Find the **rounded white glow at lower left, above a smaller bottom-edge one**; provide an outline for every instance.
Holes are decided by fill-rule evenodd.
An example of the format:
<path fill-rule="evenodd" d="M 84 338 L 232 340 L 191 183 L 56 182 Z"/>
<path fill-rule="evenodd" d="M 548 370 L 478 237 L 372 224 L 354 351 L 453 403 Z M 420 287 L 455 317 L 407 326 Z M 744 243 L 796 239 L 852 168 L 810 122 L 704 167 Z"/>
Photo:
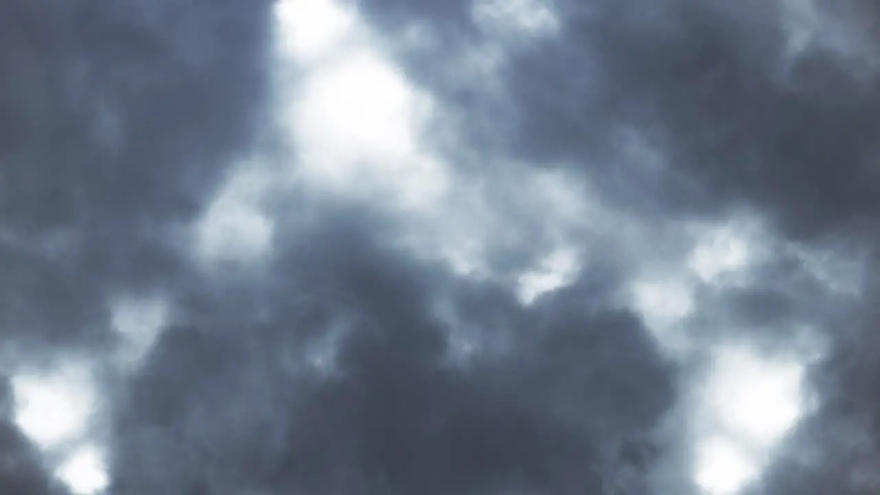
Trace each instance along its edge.
<path fill-rule="evenodd" d="M 84 434 L 97 397 L 90 370 L 67 364 L 52 373 L 12 377 L 15 423 L 44 449 L 60 447 Z"/>

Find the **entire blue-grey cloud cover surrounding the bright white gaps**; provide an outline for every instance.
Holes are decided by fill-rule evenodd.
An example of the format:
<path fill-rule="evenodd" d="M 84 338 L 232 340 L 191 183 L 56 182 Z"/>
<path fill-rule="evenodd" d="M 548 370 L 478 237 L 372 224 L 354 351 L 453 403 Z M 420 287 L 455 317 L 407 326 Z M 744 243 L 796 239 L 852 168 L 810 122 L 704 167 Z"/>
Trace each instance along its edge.
<path fill-rule="evenodd" d="M 203 270 L 181 232 L 277 137 L 271 3 L 0 4 L 0 371 L 100 360 L 120 345 L 114 298 L 169 301 L 143 362 L 98 366 L 110 493 L 695 492 L 687 387 L 707 355 L 671 358 L 627 294 L 686 264 L 686 225 L 741 211 L 769 254 L 744 281 L 688 281 L 677 325 L 707 346 L 784 350 L 805 324 L 830 343 L 810 368 L 821 406 L 754 490 L 876 489 L 862 479 L 876 440 L 856 441 L 880 427 L 862 255 L 880 100 L 862 52 L 812 32 L 793 51 L 783 3 L 557 2 L 561 27 L 541 36 L 480 26 L 468 2 L 357 6 L 450 119 L 426 137 L 444 166 L 505 211 L 478 232 L 502 275 L 400 247 L 409 211 L 307 188 L 260 205 L 265 260 Z M 295 162 L 285 146 L 260 159 Z M 589 184 L 573 190 L 602 224 L 558 227 L 589 259 L 528 305 L 510 279 L 559 239 L 538 201 L 517 201 L 522 166 Z M 510 244 L 493 244 L 505 228 Z M 799 255 L 841 257 L 831 241 L 861 256 L 858 295 Z M 3 383 L 0 491 L 61 491 Z"/>

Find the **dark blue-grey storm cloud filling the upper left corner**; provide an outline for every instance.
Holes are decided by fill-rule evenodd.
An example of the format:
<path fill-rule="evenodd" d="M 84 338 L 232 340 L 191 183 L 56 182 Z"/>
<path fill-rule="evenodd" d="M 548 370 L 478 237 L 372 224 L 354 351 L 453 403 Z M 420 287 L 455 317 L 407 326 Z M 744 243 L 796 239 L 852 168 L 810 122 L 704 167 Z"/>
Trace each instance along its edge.
<path fill-rule="evenodd" d="M 253 139 L 267 6 L 0 5 L 4 334 L 93 333 L 111 286 L 176 269 L 166 231 Z"/>

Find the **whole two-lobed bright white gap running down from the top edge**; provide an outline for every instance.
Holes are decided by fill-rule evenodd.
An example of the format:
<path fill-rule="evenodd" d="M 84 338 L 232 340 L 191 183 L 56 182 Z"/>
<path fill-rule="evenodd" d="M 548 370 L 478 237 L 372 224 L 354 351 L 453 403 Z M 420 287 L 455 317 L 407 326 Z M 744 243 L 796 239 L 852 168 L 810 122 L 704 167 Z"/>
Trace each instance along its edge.
<path fill-rule="evenodd" d="M 446 167 L 420 138 L 433 102 L 357 11 L 333 0 L 284 0 L 275 19 L 279 117 L 297 155 L 289 179 L 398 210 L 443 196 Z M 285 78 L 291 71 L 295 81 Z"/>

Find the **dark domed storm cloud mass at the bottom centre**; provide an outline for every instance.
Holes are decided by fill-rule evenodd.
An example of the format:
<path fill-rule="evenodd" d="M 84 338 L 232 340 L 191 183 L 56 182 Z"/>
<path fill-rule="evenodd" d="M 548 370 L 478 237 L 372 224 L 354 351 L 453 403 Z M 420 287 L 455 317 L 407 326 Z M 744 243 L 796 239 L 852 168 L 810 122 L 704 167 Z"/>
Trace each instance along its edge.
<path fill-rule="evenodd" d="M 671 367 L 606 288 L 527 310 L 334 223 L 275 267 L 259 318 L 162 337 L 122 402 L 120 492 L 598 493 L 647 469 Z M 501 344 L 461 355 L 438 299 Z"/>

